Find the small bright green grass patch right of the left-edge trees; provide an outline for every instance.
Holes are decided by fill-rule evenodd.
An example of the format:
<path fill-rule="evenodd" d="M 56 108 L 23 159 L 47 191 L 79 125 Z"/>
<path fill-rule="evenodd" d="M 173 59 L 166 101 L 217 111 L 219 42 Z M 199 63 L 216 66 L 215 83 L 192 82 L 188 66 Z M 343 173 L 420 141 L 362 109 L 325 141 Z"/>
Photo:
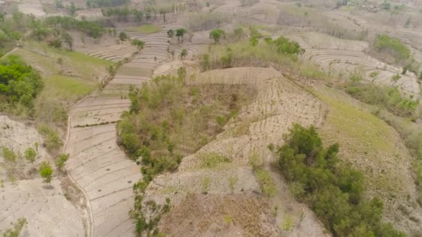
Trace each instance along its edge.
<path fill-rule="evenodd" d="M 60 75 L 44 78 L 44 83 L 46 88 L 42 93 L 66 100 L 82 98 L 90 94 L 96 87 L 95 84 L 85 80 Z"/>

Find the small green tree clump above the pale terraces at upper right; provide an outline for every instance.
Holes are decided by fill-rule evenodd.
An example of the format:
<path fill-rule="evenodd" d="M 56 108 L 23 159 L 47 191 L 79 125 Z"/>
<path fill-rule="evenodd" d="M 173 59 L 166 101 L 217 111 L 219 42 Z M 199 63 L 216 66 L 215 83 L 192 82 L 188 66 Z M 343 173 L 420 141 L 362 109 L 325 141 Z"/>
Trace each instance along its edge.
<path fill-rule="evenodd" d="M 391 38 L 388 35 L 377 35 L 373 42 L 373 48 L 378 53 L 391 56 L 398 64 L 405 64 L 405 61 L 410 58 L 410 49 L 400 40 Z"/>

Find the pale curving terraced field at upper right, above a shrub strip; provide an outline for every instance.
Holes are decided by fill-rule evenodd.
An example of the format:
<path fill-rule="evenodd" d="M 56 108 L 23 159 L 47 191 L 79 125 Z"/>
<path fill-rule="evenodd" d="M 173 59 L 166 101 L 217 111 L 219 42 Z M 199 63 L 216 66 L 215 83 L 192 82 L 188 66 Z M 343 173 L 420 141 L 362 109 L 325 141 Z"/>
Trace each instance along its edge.
<path fill-rule="evenodd" d="M 368 44 L 352 40 L 341 40 L 322 33 L 289 35 L 305 49 L 303 59 L 313 62 L 331 75 L 348 78 L 354 73 L 380 85 L 398 86 L 404 93 L 418 96 L 421 89 L 414 73 L 400 75 L 398 81 L 393 76 L 401 74 L 401 69 L 372 58 L 364 53 Z M 371 77 L 371 73 L 378 75 Z"/>

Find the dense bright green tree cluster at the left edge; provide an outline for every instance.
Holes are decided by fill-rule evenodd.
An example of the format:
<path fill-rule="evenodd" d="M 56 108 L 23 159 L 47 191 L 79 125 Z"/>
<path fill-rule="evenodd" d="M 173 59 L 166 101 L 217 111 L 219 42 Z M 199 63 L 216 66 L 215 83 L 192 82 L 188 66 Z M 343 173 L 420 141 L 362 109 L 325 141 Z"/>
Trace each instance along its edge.
<path fill-rule="evenodd" d="M 0 110 L 33 109 L 33 100 L 43 87 L 40 74 L 21 58 L 9 55 L 0 61 Z"/>

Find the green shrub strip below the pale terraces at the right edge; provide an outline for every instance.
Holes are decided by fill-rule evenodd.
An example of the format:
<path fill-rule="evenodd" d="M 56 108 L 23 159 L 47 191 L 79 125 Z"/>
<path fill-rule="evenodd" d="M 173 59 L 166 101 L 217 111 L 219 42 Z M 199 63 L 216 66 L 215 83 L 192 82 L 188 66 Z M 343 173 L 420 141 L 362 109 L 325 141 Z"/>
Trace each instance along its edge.
<path fill-rule="evenodd" d="M 412 116 L 416 112 L 419 100 L 405 98 L 396 87 L 383 87 L 373 83 L 362 83 L 362 78 L 352 76 L 346 85 L 351 96 L 371 105 L 381 105 L 398 116 Z"/>

